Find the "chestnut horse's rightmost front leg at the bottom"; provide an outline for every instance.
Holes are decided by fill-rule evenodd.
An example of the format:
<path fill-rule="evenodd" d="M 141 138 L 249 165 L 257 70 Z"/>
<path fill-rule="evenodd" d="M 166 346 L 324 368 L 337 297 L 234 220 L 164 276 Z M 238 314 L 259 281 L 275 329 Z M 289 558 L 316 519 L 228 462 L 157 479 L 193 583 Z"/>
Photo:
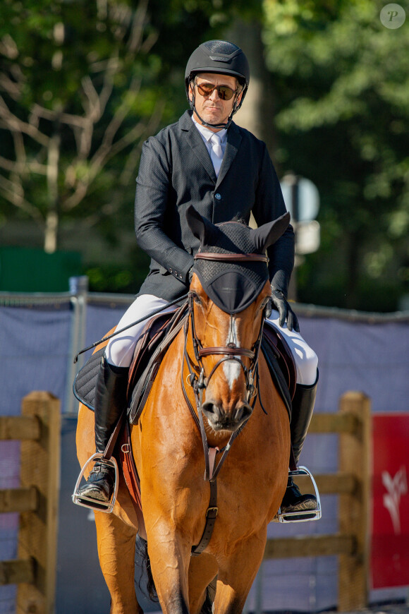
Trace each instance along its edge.
<path fill-rule="evenodd" d="M 243 612 L 245 600 L 262 562 L 267 529 L 240 542 L 219 567 L 214 611 L 217 614 Z"/>

